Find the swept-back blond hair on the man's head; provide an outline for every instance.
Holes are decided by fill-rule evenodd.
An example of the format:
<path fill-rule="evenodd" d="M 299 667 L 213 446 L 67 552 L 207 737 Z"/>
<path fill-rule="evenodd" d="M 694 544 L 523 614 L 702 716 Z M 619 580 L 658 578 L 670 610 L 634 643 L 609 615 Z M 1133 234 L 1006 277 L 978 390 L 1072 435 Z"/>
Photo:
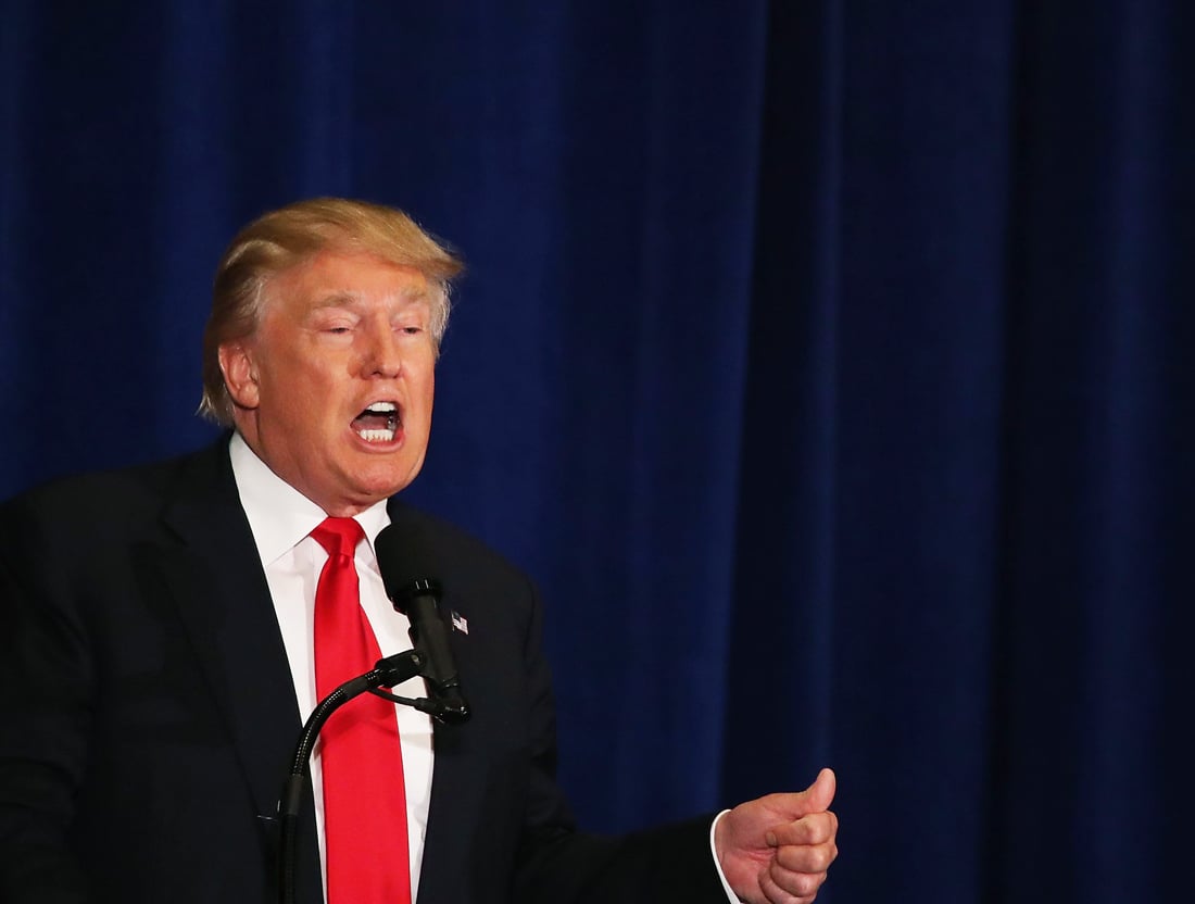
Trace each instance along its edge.
<path fill-rule="evenodd" d="M 448 326 L 449 283 L 464 269 L 460 259 L 392 207 L 339 197 L 298 201 L 245 226 L 220 258 L 203 331 L 201 415 L 232 424 L 220 347 L 253 335 L 271 279 L 326 250 L 367 252 L 422 273 L 431 287 L 431 337 L 439 352 Z"/>

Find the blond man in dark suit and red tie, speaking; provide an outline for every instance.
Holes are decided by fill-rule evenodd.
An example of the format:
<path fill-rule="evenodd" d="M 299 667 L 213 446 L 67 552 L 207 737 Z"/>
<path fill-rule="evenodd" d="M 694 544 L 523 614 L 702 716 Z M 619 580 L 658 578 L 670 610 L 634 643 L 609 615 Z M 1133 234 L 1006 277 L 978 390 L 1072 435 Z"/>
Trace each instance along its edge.
<path fill-rule="evenodd" d="M 829 770 L 716 820 L 575 830 L 532 582 L 394 499 L 423 464 L 459 269 L 388 208 L 321 198 L 259 218 L 220 263 L 204 337 L 202 409 L 234 432 L 6 503 L 2 900 L 275 900 L 301 719 L 410 646 L 373 550 L 387 525 L 436 557 L 472 717 L 433 725 L 369 695 L 332 716 L 299 900 L 816 896 L 836 855 Z"/>

